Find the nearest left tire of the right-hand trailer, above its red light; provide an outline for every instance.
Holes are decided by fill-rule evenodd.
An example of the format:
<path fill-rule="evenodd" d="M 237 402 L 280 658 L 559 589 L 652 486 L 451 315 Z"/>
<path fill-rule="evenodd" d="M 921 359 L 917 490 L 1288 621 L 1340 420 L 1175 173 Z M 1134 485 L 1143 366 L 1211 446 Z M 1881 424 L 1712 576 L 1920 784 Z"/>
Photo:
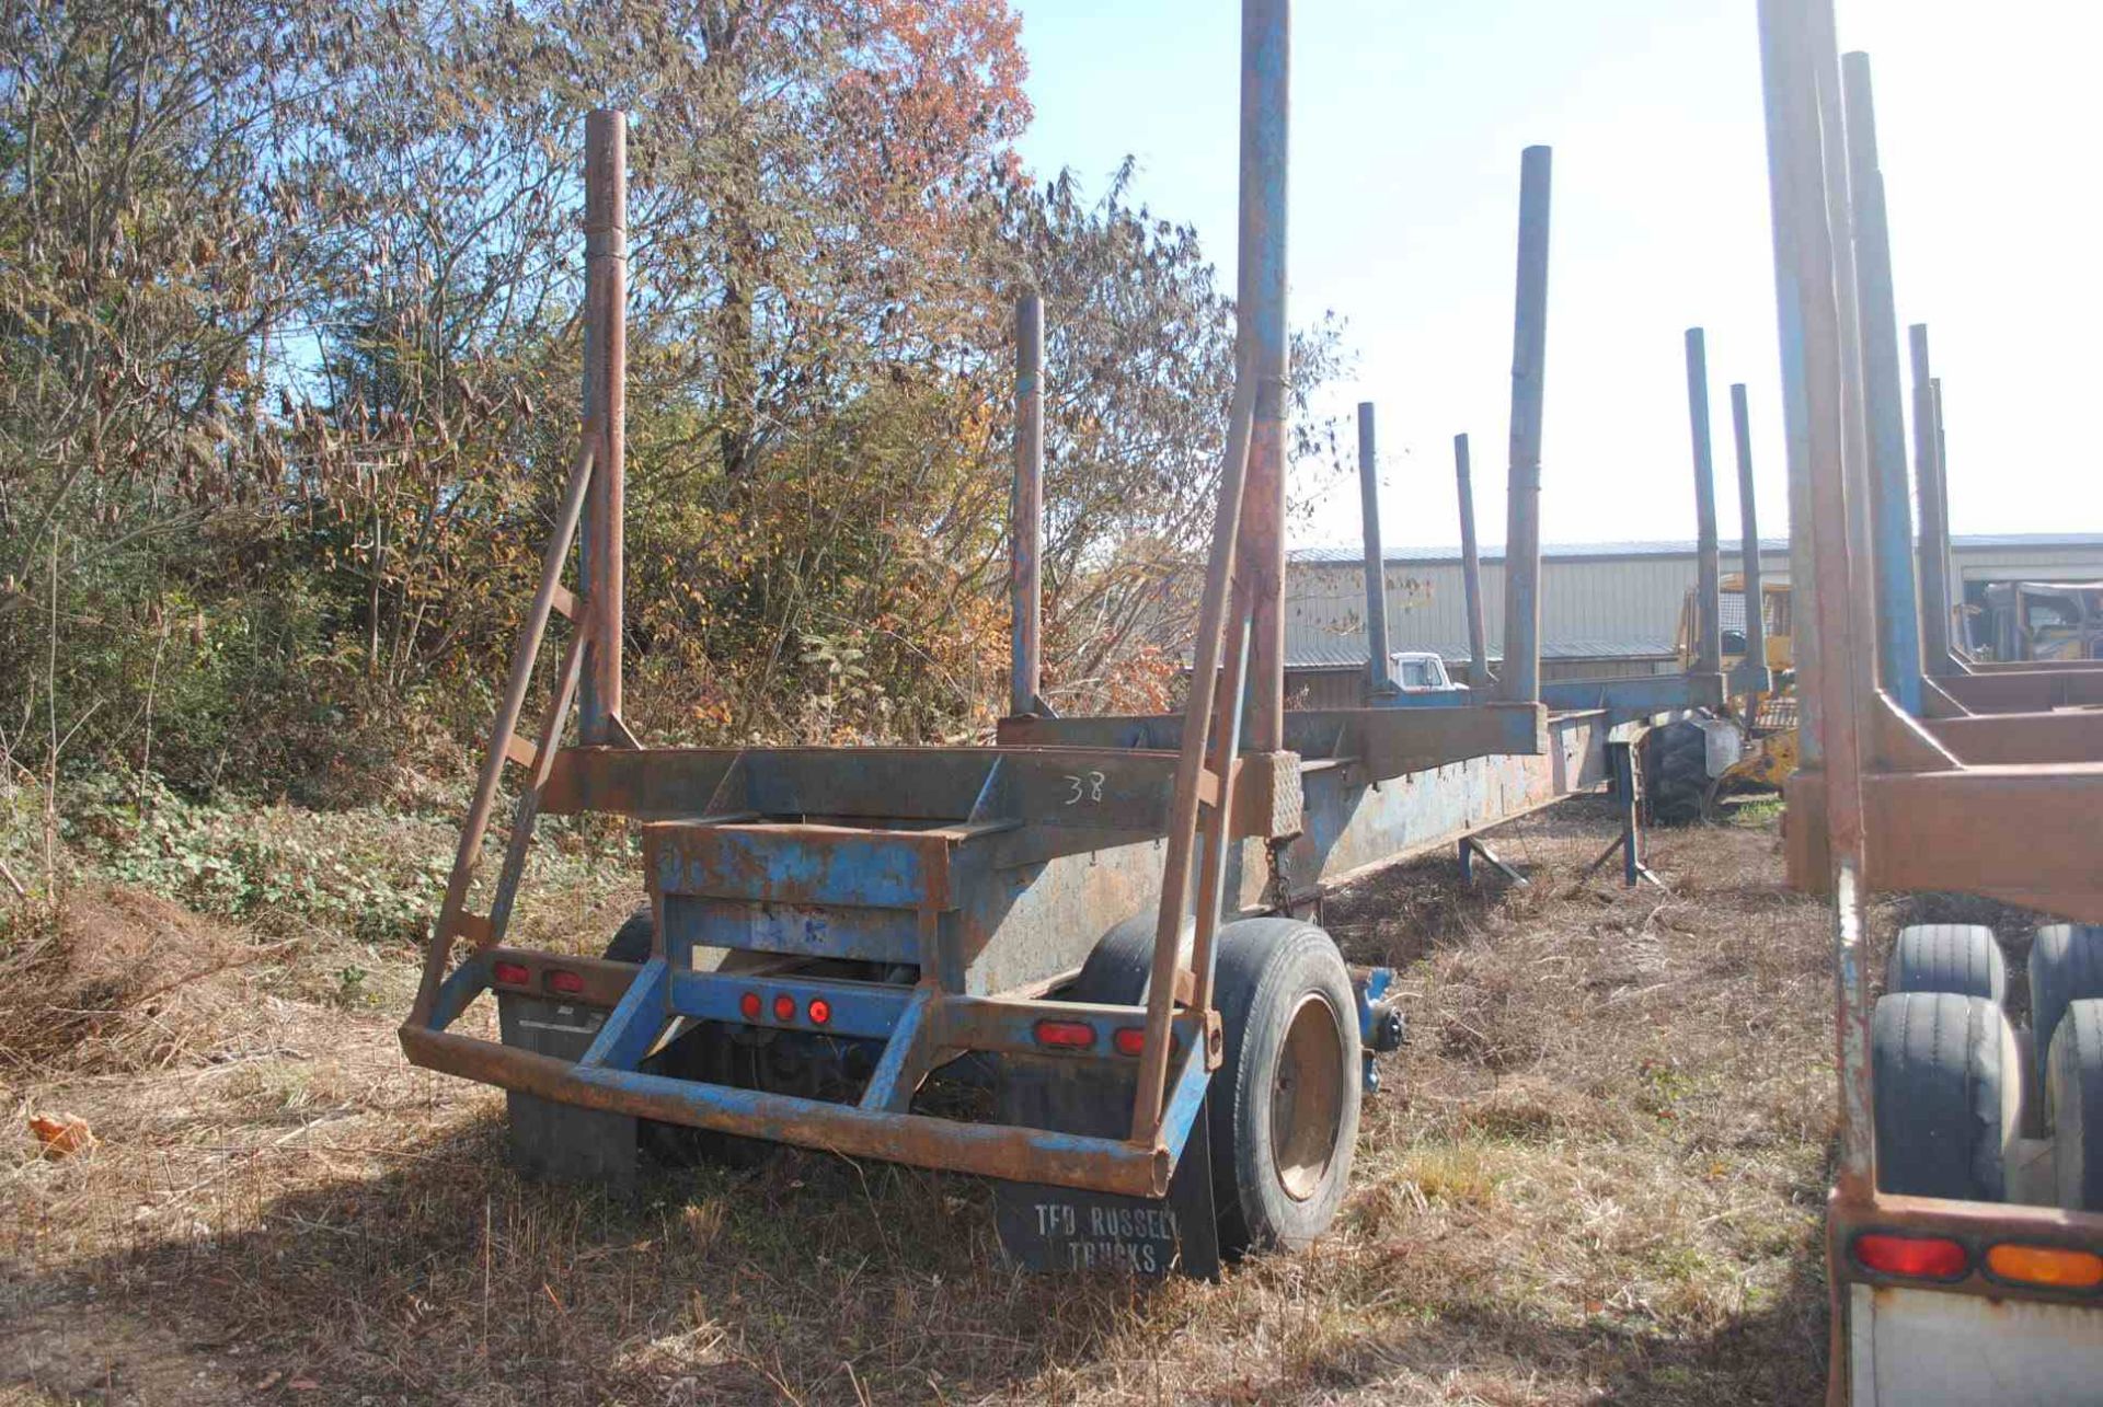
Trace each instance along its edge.
<path fill-rule="evenodd" d="M 2015 1028 L 1985 997 L 1897 993 L 1876 1003 L 1876 1184 L 1912 1197 L 2002 1201 L 2021 1125 Z"/>

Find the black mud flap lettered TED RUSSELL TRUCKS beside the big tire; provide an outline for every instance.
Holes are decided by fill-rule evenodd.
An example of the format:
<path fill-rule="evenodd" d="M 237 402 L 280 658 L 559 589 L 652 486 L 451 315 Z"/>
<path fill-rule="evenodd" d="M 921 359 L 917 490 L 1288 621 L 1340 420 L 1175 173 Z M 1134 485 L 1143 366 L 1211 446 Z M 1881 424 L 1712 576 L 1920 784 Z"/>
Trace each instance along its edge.
<path fill-rule="evenodd" d="M 1096 1138 L 1123 1138 L 1131 1127 L 1129 1077 L 1098 1079 L 1098 1064 L 1030 1056 L 1009 1056 L 1003 1066 L 1003 1121 Z M 993 1207 L 1001 1249 L 1024 1270 L 1220 1279 L 1207 1104 L 1199 1104 L 1167 1197 L 997 1182 Z"/>

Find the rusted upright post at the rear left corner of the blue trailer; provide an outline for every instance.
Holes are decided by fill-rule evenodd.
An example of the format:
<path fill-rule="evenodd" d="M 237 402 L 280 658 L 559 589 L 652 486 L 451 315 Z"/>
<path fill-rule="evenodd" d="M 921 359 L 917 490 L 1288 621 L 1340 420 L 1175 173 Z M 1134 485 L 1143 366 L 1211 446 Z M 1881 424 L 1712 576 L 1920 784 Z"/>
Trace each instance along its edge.
<path fill-rule="evenodd" d="M 620 740 L 620 601 L 627 555 L 629 118 L 585 118 L 585 427 L 597 458 L 580 553 L 589 612 L 578 732 Z"/>

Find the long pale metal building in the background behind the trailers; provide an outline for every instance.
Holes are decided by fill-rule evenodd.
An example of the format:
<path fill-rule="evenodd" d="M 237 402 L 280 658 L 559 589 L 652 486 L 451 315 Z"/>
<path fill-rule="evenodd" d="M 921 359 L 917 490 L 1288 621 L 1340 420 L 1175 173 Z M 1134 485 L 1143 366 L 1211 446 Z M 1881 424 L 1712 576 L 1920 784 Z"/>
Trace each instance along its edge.
<path fill-rule="evenodd" d="M 1737 543 L 1722 570 L 1737 572 Z M 2103 578 L 2103 532 L 1994 534 L 1952 541 L 1949 599 L 1977 606 L 1992 580 Z M 1760 572 L 1790 578 L 1785 538 L 1762 538 Z M 1607 679 L 1678 669 L 1680 601 L 1695 585 L 1693 543 L 1590 543 L 1541 549 L 1541 677 Z M 1436 650 L 1466 679 L 1457 549 L 1386 557 L 1388 641 Z M 1483 551 L 1483 616 L 1495 662 L 1504 633 L 1504 553 Z M 1960 627 L 1962 631 L 1962 627 Z M 1956 631 L 1956 637 L 1962 633 Z M 1365 564 L 1356 549 L 1295 549 L 1285 572 L 1289 690 L 1308 707 L 1348 707 L 1365 679 Z"/>

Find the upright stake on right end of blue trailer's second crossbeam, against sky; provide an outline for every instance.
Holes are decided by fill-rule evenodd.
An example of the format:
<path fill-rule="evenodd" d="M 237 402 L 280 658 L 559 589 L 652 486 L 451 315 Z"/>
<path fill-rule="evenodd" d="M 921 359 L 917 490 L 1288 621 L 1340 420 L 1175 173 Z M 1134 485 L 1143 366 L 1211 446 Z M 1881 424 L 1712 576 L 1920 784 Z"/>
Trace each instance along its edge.
<path fill-rule="evenodd" d="M 1518 297 L 1512 318 L 1512 458 L 1504 534 L 1506 702 L 1541 696 L 1541 389 L 1548 368 L 1548 200 L 1554 156 L 1518 164 Z"/>

